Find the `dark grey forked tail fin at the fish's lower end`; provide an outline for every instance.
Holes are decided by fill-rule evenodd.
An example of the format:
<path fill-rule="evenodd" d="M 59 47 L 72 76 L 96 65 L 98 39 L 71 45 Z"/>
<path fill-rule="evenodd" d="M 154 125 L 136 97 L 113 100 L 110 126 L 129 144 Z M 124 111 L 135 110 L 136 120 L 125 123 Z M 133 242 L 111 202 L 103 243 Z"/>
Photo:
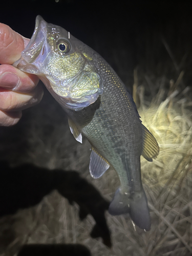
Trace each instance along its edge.
<path fill-rule="evenodd" d="M 121 193 L 117 189 L 110 204 L 109 213 L 111 215 L 130 214 L 133 222 L 146 231 L 151 228 L 150 212 L 148 211 L 147 199 L 144 190 L 134 194 Z"/>

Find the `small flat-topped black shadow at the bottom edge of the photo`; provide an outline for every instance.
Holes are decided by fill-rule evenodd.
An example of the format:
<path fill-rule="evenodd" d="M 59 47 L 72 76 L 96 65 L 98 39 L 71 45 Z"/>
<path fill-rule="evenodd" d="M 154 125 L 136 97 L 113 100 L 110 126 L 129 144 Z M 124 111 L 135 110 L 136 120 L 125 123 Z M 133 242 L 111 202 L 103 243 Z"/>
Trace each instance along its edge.
<path fill-rule="evenodd" d="M 80 244 L 29 244 L 17 256 L 91 256 L 90 251 Z"/>

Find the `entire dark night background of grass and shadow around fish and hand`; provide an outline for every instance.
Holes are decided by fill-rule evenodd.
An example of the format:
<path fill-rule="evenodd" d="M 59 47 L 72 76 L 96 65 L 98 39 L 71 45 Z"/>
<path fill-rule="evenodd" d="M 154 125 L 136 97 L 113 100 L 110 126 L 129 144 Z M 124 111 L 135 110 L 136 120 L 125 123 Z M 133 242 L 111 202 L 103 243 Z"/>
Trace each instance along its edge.
<path fill-rule="evenodd" d="M 23 36 L 39 14 L 108 61 L 161 151 L 153 163 L 141 159 L 152 228 L 135 231 L 129 215 L 107 211 L 118 176 L 110 167 L 91 178 L 89 142 L 74 139 L 44 87 L 18 124 L 0 127 L 1 256 L 23 245 L 20 256 L 192 255 L 191 11 L 189 1 L 4 2 L 0 22 Z"/>

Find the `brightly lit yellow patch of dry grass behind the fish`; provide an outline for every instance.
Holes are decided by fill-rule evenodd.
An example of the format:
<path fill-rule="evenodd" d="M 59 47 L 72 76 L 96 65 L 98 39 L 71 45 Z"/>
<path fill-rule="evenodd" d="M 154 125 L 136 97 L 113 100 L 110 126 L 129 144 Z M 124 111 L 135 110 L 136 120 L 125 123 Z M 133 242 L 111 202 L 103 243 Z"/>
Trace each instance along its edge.
<path fill-rule="evenodd" d="M 159 156 L 153 163 L 141 158 L 142 172 L 156 175 L 160 184 L 170 178 L 180 161 L 192 156 L 192 114 L 182 104 L 173 101 L 173 95 L 159 106 L 154 103 L 149 108 L 142 106 L 139 110 L 143 124 L 160 146 Z"/>

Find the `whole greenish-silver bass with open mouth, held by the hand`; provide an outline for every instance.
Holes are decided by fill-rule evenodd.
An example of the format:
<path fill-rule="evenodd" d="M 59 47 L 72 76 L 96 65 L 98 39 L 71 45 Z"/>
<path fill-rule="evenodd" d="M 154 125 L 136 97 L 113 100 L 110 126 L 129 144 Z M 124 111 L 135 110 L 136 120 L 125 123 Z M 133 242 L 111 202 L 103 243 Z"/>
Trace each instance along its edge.
<path fill-rule="evenodd" d="M 14 66 L 37 75 L 67 113 L 75 139 L 82 143 L 83 135 L 89 140 L 91 176 L 101 177 L 110 166 L 115 169 L 120 186 L 110 214 L 129 214 L 138 227 L 150 230 L 140 156 L 153 161 L 159 146 L 108 62 L 70 32 L 38 15 L 31 40 Z"/>

